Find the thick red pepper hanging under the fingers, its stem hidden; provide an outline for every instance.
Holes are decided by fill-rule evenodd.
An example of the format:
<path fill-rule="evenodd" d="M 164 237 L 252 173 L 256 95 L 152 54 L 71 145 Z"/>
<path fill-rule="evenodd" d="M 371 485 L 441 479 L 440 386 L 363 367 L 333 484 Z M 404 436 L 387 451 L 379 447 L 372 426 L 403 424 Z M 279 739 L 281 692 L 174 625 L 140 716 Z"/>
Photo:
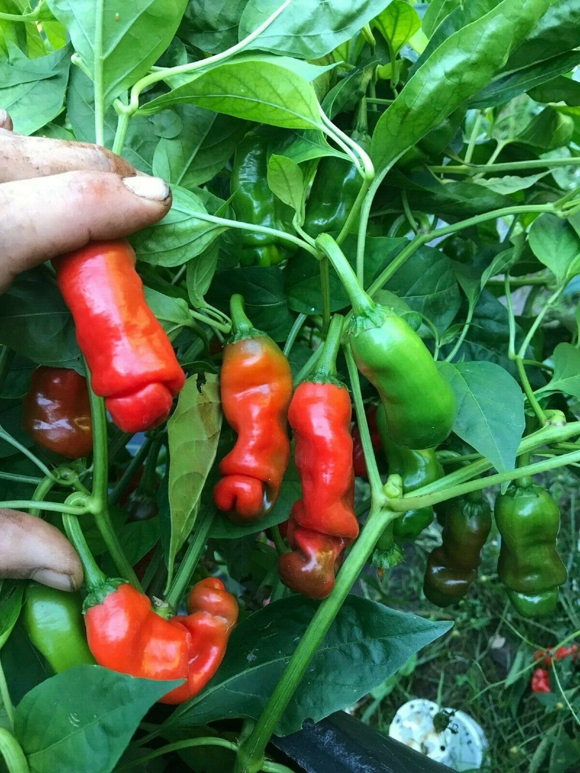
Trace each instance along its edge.
<path fill-rule="evenodd" d="M 131 246 L 122 240 L 93 242 L 53 265 L 91 386 L 105 398 L 114 423 L 124 432 L 161 424 L 185 374 L 145 301 Z"/>

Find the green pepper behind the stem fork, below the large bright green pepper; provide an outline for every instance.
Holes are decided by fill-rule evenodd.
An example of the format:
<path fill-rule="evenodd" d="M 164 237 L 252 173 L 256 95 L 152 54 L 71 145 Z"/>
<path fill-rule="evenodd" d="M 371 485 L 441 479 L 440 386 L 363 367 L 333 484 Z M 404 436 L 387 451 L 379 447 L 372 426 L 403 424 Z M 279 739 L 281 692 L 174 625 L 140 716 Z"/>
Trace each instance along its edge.
<path fill-rule="evenodd" d="M 421 451 L 405 448 L 395 443 L 387 432 L 387 417 L 384 407 L 377 410 L 377 427 L 383 449 L 389 463 L 391 475 L 401 475 L 403 493 L 408 494 L 421 486 L 433 483 L 443 475 L 443 468 L 437 461 L 435 448 Z M 432 523 L 433 508 L 421 507 L 408 510 L 393 521 L 393 536 L 397 542 L 416 540 L 419 534 Z"/>

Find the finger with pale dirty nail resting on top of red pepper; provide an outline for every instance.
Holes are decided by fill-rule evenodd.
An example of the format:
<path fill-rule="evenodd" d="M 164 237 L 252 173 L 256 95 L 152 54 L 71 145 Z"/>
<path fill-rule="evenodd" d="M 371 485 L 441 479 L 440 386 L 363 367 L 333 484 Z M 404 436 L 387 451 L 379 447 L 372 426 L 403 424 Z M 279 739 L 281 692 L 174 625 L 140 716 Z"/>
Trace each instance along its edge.
<path fill-rule="evenodd" d="M 158 177 L 65 172 L 0 185 L 0 292 L 16 274 L 93 240 L 161 220 L 171 191 Z"/>

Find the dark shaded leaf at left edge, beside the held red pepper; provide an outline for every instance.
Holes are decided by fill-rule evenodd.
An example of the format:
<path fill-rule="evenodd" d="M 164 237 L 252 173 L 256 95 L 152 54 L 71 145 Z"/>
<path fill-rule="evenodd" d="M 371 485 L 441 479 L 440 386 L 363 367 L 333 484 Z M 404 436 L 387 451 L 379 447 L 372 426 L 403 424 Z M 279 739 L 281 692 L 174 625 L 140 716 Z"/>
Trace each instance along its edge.
<path fill-rule="evenodd" d="M 46 269 L 25 271 L 0 296 L 0 342 L 39 365 L 80 366 L 73 318 Z"/>

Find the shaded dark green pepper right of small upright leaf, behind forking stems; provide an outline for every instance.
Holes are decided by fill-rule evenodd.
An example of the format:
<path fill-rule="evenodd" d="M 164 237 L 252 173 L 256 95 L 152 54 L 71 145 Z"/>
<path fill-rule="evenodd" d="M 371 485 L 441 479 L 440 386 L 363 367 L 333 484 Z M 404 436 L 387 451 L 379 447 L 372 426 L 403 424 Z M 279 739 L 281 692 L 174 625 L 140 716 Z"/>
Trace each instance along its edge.
<path fill-rule="evenodd" d="M 351 136 L 363 150 L 370 148 L 366 133 L 353 131 Z M 361 185 L 362 179 L 352 162 L 333 155 L 322 158 L 306 207 L 306 233 L 316 238 L 320 233 L 342 230 Z"/>

